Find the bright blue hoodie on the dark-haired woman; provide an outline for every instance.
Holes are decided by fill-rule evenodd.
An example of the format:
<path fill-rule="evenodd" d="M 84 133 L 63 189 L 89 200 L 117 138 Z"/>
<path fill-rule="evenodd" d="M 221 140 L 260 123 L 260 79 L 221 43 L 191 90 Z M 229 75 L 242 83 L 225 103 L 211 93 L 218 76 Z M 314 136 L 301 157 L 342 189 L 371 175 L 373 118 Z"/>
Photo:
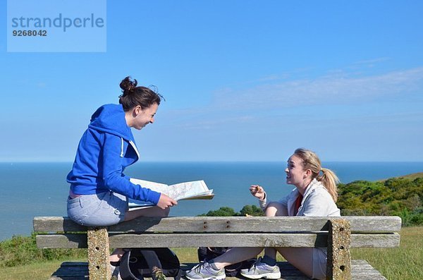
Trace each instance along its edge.
<path fill-rule="evenodd" d="M 123 174 L 140 154 L 121 104 L 101 106 L 91 117 L 82 135 L 75 162 L 67 181 L 76 195 L 92 195 L 112 190 L 134 200 L 159 202 L 160 193 L 140 188 Z"/>

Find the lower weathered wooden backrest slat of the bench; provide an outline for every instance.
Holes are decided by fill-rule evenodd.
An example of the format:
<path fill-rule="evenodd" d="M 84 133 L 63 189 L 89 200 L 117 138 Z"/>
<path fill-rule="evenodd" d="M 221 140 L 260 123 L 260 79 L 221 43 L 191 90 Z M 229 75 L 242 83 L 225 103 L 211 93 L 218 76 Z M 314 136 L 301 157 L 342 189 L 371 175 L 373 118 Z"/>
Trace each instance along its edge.
<path fill-rule="evenodd" d="M 145 233 L 109 236 L 111 248 L 145 247 L 326 247 L 326 233 Z M 398 233 L 355 233 L 351 247 L 395 248 Z M 85 234 L 37 235 L 39 248 L 87 248 Z"/>

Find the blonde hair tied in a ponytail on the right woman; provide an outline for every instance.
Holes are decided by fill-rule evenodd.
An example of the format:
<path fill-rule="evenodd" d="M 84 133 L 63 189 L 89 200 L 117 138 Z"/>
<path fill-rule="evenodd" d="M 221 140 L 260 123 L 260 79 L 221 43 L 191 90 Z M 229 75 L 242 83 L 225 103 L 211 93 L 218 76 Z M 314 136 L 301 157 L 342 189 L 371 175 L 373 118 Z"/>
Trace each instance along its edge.
<path fill-rule="evenodd" d="M 295 150 L 294 154 L 302 159 L 302 167 L 312 171 L 312 178 L 316 178 L 317 181 L 323 183 L 333 201 L 336 202 L 338 200 L 338 188 L 336 184 L 339 183 L 339 179 L 335 173 L 330 169 L 322 168 L 319 157 L 313 151 L 299 148 Z"/>

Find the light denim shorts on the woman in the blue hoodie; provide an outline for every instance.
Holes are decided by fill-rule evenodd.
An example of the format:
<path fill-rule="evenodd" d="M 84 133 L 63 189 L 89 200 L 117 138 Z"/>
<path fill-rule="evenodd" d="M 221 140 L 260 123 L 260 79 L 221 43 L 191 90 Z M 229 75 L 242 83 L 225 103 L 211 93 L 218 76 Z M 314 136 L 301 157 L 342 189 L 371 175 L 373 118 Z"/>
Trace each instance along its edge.
<path fill-rule="evenodd" d="M 68 217 L 82 226 L 111 226 L 125 219 L 128 198 L 111 191 L 68 197 Z"/>

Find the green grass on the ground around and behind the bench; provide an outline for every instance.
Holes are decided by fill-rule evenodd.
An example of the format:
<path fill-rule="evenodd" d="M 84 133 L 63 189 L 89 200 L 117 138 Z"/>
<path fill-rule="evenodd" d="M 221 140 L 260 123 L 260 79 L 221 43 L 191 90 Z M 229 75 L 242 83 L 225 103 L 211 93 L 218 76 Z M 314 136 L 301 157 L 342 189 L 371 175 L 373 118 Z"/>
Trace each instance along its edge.
<path fill-rule="evenodd" d="M 403 228 L 400 234 L 400 248 L 353 248 L 352 258 L 367 260 L 389 280 L 423 279 L 423 226 Z M 175 248 L 174 251 L 180 262 L 197 262 L 195 248 Z M 61 262 L 55 260 L 18 267 L 0 267 L 0 279 L 46 280 L 60 267 Z"/>

